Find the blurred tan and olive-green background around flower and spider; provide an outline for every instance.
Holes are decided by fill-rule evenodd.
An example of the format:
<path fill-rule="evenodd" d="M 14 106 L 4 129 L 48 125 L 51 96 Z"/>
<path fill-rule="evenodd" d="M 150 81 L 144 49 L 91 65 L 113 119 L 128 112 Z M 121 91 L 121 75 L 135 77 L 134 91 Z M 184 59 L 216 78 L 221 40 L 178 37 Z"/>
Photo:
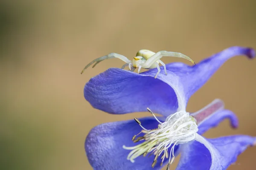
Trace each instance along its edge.
<path fill-rule="evenodd" d="M 178 51 L 196 62 L 233 45 L 256 48 L 255 6 L 253 0 L 1 0 L 0 169 L 92 170 L 84 152 L 92 127 L 149 115 L 93 109 L 84 84 L 124 63 L 106 60 L 81 75 L 84 66 L 111 52 L 132 59 L 143 48 Z M 255 73 L 256 59 L 235 57 L 192 96 L 189 112 L 220 98 L 239 117 L 237 130 L 226 120 L 206 137 L 256 136 Z M 256 147 L 248 148 L 229 170 L 254 170 L 255 155 Z"/>

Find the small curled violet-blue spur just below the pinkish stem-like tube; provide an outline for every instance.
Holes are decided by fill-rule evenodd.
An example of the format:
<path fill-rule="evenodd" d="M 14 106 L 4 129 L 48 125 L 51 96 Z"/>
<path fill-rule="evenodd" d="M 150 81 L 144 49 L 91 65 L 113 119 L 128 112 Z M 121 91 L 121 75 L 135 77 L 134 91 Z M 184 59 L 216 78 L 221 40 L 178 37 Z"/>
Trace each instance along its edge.
<path fill-rule="evenodd" d="M 201 124 L 198 124 L 198 129 L 199 129 L 198 134 L 203 134 L 210 128 L 216 127 L 224 119 L 229 119 L 230 125 L 233 128 L 238 127 L 239 122 L 238 122 L 237 116 L 230 110 L 222 110 L 222 111 L 213 113 L 211 116 L 209 116 L 208 119 L 205 119 L 204 122 L 201 122 Z"/>

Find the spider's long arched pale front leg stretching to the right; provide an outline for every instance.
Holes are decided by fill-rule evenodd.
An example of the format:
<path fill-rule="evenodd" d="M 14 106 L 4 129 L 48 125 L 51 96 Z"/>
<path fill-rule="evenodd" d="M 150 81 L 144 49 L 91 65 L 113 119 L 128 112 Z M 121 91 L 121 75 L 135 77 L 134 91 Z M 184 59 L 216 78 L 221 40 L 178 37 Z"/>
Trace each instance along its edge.
<path fill-rule="evenodd" d="M 180 57 L 180 58 L 187 59 L 193 64 L 195 64 L 195 62 L 190 57 L 184 54 L 172 52 L 172 51 L 158 51 L 156 54 L 152 55 L 149 59 L 147 59 L 147 61 L 142 65 L 143 68 L 149 68 L 151 65 L 154 64 L 154 62 L 156 62 L 162 57 Z"/>

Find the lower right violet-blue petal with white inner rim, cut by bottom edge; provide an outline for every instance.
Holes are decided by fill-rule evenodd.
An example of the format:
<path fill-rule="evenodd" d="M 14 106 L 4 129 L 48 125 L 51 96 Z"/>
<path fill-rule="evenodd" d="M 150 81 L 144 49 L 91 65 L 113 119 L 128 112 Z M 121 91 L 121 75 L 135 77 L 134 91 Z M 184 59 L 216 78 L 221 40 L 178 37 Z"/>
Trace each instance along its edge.
<path fill-rule="evenodd" d="M 225 170 L 256 137 L 237 135 L 205 139 L 198 135 L 197 141 L 180 146 L 181 157 L 176 170 Z"/>

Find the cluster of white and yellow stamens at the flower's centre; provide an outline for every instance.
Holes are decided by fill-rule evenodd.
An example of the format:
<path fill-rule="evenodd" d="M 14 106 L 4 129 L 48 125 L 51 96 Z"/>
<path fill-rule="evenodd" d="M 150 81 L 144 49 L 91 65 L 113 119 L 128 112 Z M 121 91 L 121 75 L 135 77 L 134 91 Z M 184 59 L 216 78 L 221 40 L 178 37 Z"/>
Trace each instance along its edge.
<path fill-rule="evenodd" d="M 192 116 L 190 116 L 188 112 L 179 111 L 168 116 L 166 118 L 166 121 L 162 123 L 157 119 L 154 113 L 150 111 L 150 109 L 148 109 L 148 111 L 153 114 L 155 119 L 160 124 L 158 125 L 157 129 L 147 130 L 141 125 L 140 121 L 137 118 L 134 118 L 135 121 L 143 128 L 140 133 L 144 133 L 144 136 L 137 137 L 137 135 L 135 135 L 132 140 L 134 142 L 144 142 L 134 147 L 126 147 L 124 145 L 124 149 L 131 150 L 131 152 L 127 156 L 127 159 L 131 162 L 134 162 L 134 159 L 136 159 L 138 156 L 146 156 L 148 153 L 150 153 L 150 155 L 154 154 L 154 161 L 152 163 L 152 167 L 156 165 L 157 159 L 160 155 L 162 155 L 162 161 L 160 165 L 163 164 L 165 158 L 169 158 L 170 165 L 175 158 L 175 145 L 184 144 L 195 139 L 195 134 L 198 131 L 196 120 Z M 171 147 L 171 150 L 168 152 L 169 147 Z"/>

